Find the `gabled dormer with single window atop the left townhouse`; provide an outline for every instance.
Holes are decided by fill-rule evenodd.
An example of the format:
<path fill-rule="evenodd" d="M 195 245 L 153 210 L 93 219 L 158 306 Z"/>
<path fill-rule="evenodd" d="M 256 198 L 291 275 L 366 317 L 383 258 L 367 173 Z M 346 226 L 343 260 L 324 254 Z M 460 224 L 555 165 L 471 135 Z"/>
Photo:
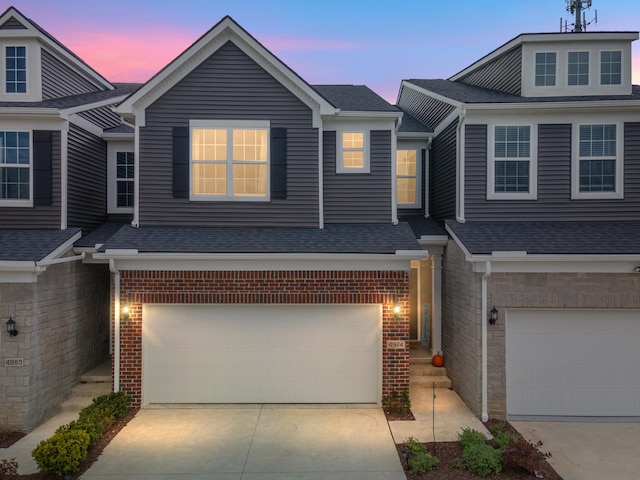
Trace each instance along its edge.
<path fill-rule="evenodd" d="M 113 86 L 18 10 L 0 15 L 0 102 L 41 102 Z"/>

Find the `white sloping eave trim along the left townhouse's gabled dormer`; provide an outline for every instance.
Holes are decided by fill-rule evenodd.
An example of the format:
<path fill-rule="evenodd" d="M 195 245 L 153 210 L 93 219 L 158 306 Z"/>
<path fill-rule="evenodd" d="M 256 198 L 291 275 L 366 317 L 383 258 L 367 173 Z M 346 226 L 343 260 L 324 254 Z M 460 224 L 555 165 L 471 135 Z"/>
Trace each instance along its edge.
<path fill-rule="evenodd" d="M 27 17 L 22 15 L 18 10 L 14 7 L 9 7 L 1 16 L 0 16 L 0 25 L 5 24 L 8 20 L 13 17 L 14 20 L 18 21 L 24 28 L 20 29 L 0 29 L 0 38 L 25 38 L 25 39 L 37 39 L 38 42 L 46 47 L 51 54 L 53 54 L 58 59 L 61 59 L 63 62 L 67 64 L 73 65 L 73 68 L 77 73 L 83 75 L 89 81 L 94 83 L 97 87 L 102 87 L 104 89 L 113 90 L 113 85 L 104 78 L 101 74 L 87 65 L 80 57 L 78 57 L 75 53 L 65 47 L 62 43 L 60 43 L 57 39 L 55 39 L 50 33 L 44 30 L 42 27 L 29 20 Z"/>

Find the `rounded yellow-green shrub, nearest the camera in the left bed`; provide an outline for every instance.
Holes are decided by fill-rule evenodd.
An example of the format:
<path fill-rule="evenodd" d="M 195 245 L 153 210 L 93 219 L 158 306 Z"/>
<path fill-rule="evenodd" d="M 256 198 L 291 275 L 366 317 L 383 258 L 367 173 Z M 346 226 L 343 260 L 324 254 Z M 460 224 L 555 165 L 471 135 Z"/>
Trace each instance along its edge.
<path fill-rule="evenodd" d="M 87 457 L 89 435 L 84 430 L 68 430 L 42 440 L 31 455 L 45 473 L 62 477 L 80 470 Z"/>

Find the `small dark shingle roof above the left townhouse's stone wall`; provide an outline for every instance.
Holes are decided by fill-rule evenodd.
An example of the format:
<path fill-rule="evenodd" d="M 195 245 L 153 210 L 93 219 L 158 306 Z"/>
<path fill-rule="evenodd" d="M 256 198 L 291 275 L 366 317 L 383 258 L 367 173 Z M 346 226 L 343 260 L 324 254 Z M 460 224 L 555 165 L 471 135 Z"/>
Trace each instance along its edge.
<path fill-rule="evenodd" d="M 80 231 L 66 230 L 0 230 L 0 261 L 38 262 Z"/>

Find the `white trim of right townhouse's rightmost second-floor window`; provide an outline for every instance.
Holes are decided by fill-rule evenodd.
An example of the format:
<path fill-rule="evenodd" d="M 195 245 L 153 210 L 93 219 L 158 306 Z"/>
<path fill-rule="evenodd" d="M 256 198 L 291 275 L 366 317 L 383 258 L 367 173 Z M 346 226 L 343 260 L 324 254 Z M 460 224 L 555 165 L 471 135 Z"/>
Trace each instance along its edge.
<path fill-rule="evenodd" d="M 616 186 L 613 192 L 581 192 L 580 191 L 580 126 L 581 125 L 615 125 L 616 126 Z M 571 128 L 571 199 L 572 200 L 604 200 L 624 198 L 624 125 L 621 122 L 593 121 L 574 123 Z M 587 157 L 585 157 L 587 159 Z"/>

